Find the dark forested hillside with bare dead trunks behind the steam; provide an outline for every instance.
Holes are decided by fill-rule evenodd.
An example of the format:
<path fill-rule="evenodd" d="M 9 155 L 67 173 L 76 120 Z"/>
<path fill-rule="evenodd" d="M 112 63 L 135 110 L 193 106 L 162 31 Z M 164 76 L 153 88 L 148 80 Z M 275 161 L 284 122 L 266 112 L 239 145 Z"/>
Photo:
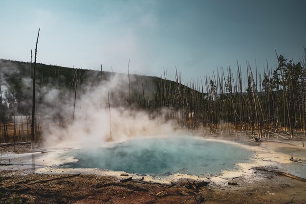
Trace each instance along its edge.
<path fill-rule="evenodd" d="M 44 114 L 43 110 L 50 107 L 56 110 L 67 98 L 70 106 L 75 107 L 76 101 L 90 91 L 90 87 L 118 80 L 121 85 L 115 87 L 116 91 L 101 93 L 109 94 L 110 107 L 144 110 L 150 118 L 162 116 L 175 119 L 179 128 L 197 130 L 204 127 L 211 133 L 226 129 L 234 130 L 236 135 L 259 137 L 284 133 L 294 137 L 296 131 L 305 133 L 306 130 L 306 58 L 304 56 L 295 63 L 280 55 L 278 62 L 276 68 L 267 65 L 264 73 L 257 73 L 257 68 L 248 65 L 246 79 L 241 76 L 240 65 L 237 72 L 232 72 L 230 68 L 221 69 L 212 78 L 200 78 L 189 87 L 181 84 L 181 76 L 177 73 L 175 81 L 170 81 L 165 77 L 166 73 L 165 78 L 159 78 L 37 64 L 36 116 Z M 6 126 L 16 121 L 14 116 L 31 113 L 32 69 L 30 63 L 0 61 L 2 141 L 10 135 Z M 53 97 L 52 91 L 58 93 L 56 104 L 47 100 Z M 70 115 L 59 117 L 64 123 L 71 120 Z M 37 123 L 39 121 L 42 124 L 45 122 L 37 119 Z M 29 123 L 28 120 L 26 122 Z M 14 127 L 13 134 L 16 132 Z"/>

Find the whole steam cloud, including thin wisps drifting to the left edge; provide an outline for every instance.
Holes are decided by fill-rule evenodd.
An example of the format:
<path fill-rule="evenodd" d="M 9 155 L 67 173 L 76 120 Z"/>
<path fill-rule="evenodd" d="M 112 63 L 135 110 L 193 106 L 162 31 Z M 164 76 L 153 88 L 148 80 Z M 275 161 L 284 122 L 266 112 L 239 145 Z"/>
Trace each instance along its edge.
<path fill-rule="evenodd" d="M 20 68 L 5 60 L 0 61 L 0 68 L 1 109 L 9 116 L 30 115 L 33 70 L 29 69 L 33 68 L 29 65 Z M 43 127 L 45 146 L 100 146 L 110 140 L 110 134 L 111 140 L 121 141 L 133 136 L 166 136 L 175 132 L 175 121 L 159 117 L 154 113 L 156 110 L 145 111 L 131 100 L 139 97 L 140 104 L 150 103 L 147 98 L 152 97 L 156 88 L 148 78 L 140 81 L 134 75 L 129 79 L 129 75 L 117 73 L 102 77 L 102 72 L 92 72 L 86 75 L 87 79 L 82 76 L 82 80 L 75 69 L 67 89 L 61 86 L 61 77 L 58 74 L 52 82 L 50 77 L 38 74 L 36 79 L 35 112 Z M 168 111 L 170 108 L 158 110 L 161 114 Z"/>

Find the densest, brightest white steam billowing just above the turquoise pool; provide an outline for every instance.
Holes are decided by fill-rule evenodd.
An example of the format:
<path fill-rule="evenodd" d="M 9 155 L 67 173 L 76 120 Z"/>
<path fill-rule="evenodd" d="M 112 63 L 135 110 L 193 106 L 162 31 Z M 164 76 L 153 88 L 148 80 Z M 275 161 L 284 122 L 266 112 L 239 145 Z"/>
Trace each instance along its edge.
<path fill-rule="evenodd" d="M 133 80 L 131 78 L 131 81 Z M 148 112 L 125 108 L 129 99 L 128 78 L 125 75 L 115 74 L 108 81 L 98 86 L 87 86 L 83 90 L 76 97 L 73 121 L 71 118 L 74 93 L 65 94 L 55 89 L 45 92 L 44 100 L 48 106 L 40 108 L 44 120 L 70 121 L 66 123 L 66 128 L 51 126 L 50 130 L 44 133 L 46 145 L 59 143 L 82 147 L 103 145 L 110 138 L 109 103 L 111 136 L 115 141 L 133 136 L 166 136 L 174 133 L 172 121 L 158 117 L 152 119 Z"/>

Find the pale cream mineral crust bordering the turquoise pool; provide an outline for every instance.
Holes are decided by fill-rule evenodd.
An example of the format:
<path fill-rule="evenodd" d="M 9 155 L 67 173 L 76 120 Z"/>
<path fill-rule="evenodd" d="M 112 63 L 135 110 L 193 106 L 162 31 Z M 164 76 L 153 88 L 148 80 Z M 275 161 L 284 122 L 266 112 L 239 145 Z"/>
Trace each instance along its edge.
<path fill-rule="evenodd" d="M 191 179 L 191 180 L 203 180 L 208 179 L 214 182 L 217 185 L 223 185 L 225 183 L 224 179 L 231 179 L 234 177 L 240 177 L 243 175 L 247 180 L 254 180 L 260 178 L 252 178 L 253 172 L 250 171 L 252 167 L 269 167 L 272 169 L 278 169 L 279 171 L 284 171 L 285 169 L 282 167 L 283 164 L 290 164 L 291 155 L 276 152 L 276 149 L 284 148 L 284 147 L 292 147 L 295 149 L 301 149 L 306 151 L 302 146 L 297 146 L 299 141 L 287 141 L 289 143 L 285 143 L 286 141 L 264 141 L 264 142 L 253 142 L 247 138 L 239 138 L 239 142 L 235 141 L 233 137 L 226 138 L 214 138 L 214 137 L 198 137 L 201 139 L 205 139 L 208 141 L 217 141 L 230 143 L 233 145 L 239 145 L 243 148 L 247 148 L 254 152 L 252 158 L 248 159 L 247 163 L 237 163 L 237 168 L 235 170 L 223 170 L 219 175 L 207 175 L 207 177 L 199 177 L 195 175 L 187 175 L 187 174 L 169 174 L 169 175 L 138 175 L 138 174 L 130 174 L 135 179 L 140 179 L 144 177 L 144 181 L 150 182 L 159 182 L 169 184 L 171 182 L 176 182 L 179 179 Z M 242 142 L 241 142 L 242 141 Z M 294 144 L 295 143 L 295 144 Z M 29 170 L 31 173 L 48 173 L 48 174 L 95 174 L 99 176 L 112 176 L 117 179 L 123 179 L 124 177 L 120 176 L 124 171 L 111 171 L 111 170 L 100 170 L 100 169 L 92 169 L 92 168 L 59 168 L 57 167 L 64 162 L 72 162 L 76 159 L 73 157 L 63 157 L 63 153 L 66 151 L 70 151 L 71 148 L 43 148 L 38 149 L 35 153 L 23 153 L 16 154 L 12 153 L 1 153 L 1 163 L 12 163 L 11 166 L 2 166 L 2 170 L 22 170 L 25 172 Z M 305 165 L 306 158 L 298 158 L 301 159 L 301 165 Z M 294 163 L 293 163 L 294 164 Z M 31 167 L 30 167 L 31 166 Z M 284 166 L 284 165 L 283 165 Z M 288 172 L 296 175 L 296 172 Z M 304 173 L 304 172 L 303 172 Z M 300 175 L 297 175 L 300 176 Z M 221 179 L 220 177 L 224 178 Z M 306 178 L 305 175 L 302 175 L 303 178 Z"/>

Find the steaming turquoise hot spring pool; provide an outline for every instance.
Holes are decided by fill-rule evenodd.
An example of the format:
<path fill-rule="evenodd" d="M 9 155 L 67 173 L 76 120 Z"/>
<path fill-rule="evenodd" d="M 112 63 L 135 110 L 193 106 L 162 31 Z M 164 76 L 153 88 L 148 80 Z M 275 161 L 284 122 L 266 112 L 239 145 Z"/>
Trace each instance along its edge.
<path fill-rule="evenodd" d="M 127 140 L 111 148 L 71 150 L 78 161 L 64 168 L 99 168 L 137 174 L 220 174 L 246 162 L 252 151 L 240 145 L 197 137 L 149 137 Z"/>

